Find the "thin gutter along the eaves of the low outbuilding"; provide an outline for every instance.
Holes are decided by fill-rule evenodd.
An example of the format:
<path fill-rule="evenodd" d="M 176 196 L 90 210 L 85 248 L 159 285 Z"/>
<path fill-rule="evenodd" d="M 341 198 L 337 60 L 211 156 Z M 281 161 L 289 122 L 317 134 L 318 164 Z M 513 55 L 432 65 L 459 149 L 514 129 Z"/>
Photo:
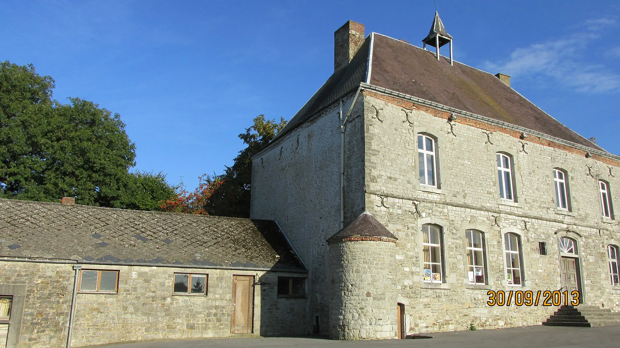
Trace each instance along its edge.
<path fill-rule="evenodd" d="M 194 268 L 194 269 L 228 269 L 230 271 L 261 271 L 261 272 L 291 272 L 291 273 L 308 273 L 307 270 L 301 269 L 272 269 L 272 268 L 256 268 L 256 267 L 226 267 L 226 266 L 202 266 L 198 264 L 162 264 L 162 263 L 126 263 L 126 262 L 100 262 L 100 261 L 84 261 L 84 260 L 63 260 L 63 259 L 31 259 L 31 258 L 7 258 L 0 257 L 0 261 L 13 262 L 32 262 L 32 263 L 56 263 L 56 264 L 105 264 L 110 266 L 141 266 L 141 267 L 169 267 L 169 268 Z M 305 265 L 304 265 L 305 266 Z"/>

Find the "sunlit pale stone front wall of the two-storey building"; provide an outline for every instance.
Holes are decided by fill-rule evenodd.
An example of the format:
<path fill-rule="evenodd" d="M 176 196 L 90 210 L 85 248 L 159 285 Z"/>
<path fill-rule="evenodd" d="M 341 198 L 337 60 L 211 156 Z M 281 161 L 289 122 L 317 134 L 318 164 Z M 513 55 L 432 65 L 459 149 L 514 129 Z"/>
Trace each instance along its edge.
<path fill-rule="evenodd" d="M 583 151 L 544 146 L 510 132 L 489 132 L 464 120 L 448 122 L 446 113 L 378 94 L 366 92 L 364 103 L 366 209 L 398 238 L 394 291 L 397 302 L 405 304 L 408 334 L 469 329 L 471 324 L 503 328 L 541 323 L 555 307 L 489 307 L 487 291 L 560 289 L 558 238 L 565 236 L 578 244 L 585 301 L 620 309 L 620 289 L 611 288 L 606 257 L 606 245 L 619 245 L 620 225 L 602 217 L 597 186 L 598 179 L 609 182 L 618 211 L 620 168 L 613 160 L 586 158 Z M 439 188 L 419 184 L 418 133 L 437 139 Z M 513 203 L 499 198 L 499 151 L 514 160 Z M 556 208 L 553 168 L 568 173 L 570 212 Z M 443 284 L 423 282 L 423 224 L 443 230 Z M 468 228 L 484 232 L 487 285 L 468 282 Z M 507 232 L 521 235 L 523 287 L 508 285 L 505 277 L 502 237 Z M 547 243 L 547 255 L 539 254 L 539 241 Z"/>

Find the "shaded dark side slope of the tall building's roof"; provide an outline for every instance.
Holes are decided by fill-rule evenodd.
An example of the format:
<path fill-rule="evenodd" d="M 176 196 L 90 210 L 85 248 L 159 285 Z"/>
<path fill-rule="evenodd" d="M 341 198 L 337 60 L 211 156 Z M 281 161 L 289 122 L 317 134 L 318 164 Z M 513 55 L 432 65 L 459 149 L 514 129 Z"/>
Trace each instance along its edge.
<path fill-rule="evenodd" d="M 286 126 L 273 138 L 272 142 L 306 122 L 316 111 L 328 107 L 339 98 L 358 88 L 360 82 L 366 80 L 369 43 L 370 37 L 367 37 L 348 66 L 345 69 L 334 72 L 321 88 L 312 95 L 312 98 L 306 102 L 303 108 L 297 111 L 295 116 L 286 123 Z"/>

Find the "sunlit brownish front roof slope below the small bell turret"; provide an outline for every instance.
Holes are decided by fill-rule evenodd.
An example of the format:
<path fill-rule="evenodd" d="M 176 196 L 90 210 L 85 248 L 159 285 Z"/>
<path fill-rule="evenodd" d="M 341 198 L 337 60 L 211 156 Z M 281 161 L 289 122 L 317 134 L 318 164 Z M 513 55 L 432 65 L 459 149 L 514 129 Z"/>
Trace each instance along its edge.
<path fill-rule="evenodd" d="M 374 35 L 370 84 L 602 150 L 497 77 L 393 38 Z"/>

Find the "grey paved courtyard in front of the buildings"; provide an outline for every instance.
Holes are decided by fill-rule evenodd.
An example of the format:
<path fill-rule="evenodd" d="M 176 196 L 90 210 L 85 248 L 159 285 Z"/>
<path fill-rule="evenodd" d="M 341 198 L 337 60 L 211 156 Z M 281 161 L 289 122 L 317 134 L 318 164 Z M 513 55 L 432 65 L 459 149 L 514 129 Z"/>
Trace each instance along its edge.
<path fill-rule="evenodd" d="M 250 348 L 250 347 L 458 347 L 458 348 L 618 348 L 620 326 L 600 328 L 555 328 L 528 326 L 495 330 L 433 333 L 431 339 L 382 341 L 331 341 L 314 337 L 229 337 L 213 339 L 177 339 L 99 346 L 106 348 Z"/>

